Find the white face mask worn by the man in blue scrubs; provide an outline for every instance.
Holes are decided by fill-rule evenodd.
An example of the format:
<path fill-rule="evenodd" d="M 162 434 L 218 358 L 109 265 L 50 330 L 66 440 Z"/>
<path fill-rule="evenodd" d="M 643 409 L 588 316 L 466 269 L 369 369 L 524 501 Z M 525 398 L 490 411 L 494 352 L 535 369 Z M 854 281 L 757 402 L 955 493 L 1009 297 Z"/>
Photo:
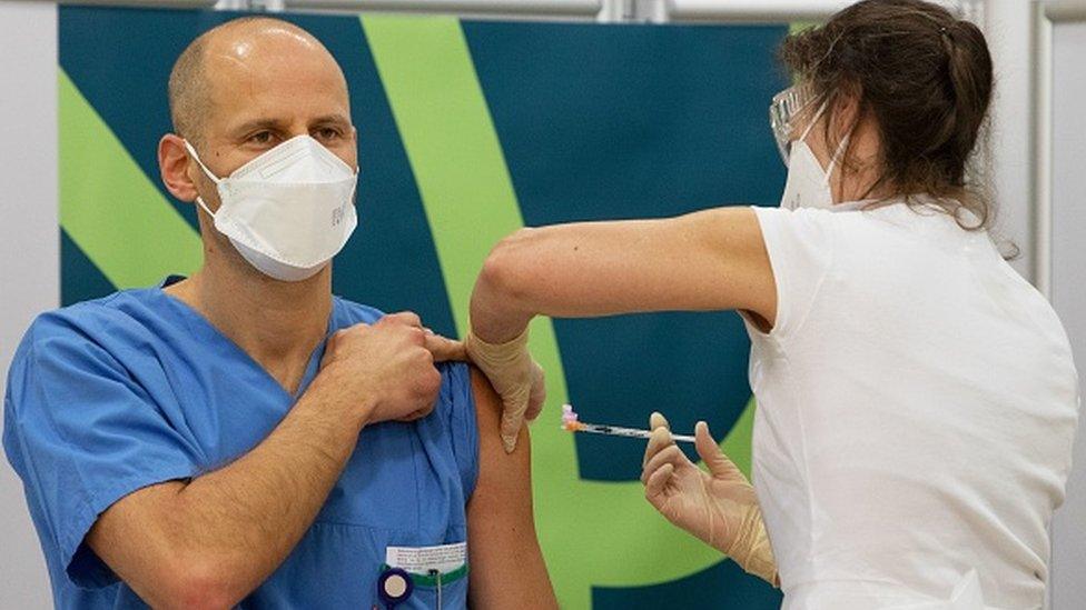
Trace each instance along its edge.
<path fill-rule="evenodd" d="M 336 256 L 358 224 L 357 173 L 309 136 L 298 136 L 260 154 L 227 178 L 217 178 L 185 142 L 215 182 L 215 229 L 257 270 L 283 281 L 314 276 Z"/>

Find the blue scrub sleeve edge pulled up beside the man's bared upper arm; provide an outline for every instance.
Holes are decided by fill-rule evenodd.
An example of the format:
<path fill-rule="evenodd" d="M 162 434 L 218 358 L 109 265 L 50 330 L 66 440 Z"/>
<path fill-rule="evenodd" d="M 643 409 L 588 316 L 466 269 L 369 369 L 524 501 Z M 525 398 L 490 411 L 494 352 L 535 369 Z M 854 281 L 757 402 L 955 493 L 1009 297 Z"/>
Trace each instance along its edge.
<path fill-rule="evenodd" d="M 453 454 L 464 487 L 464 499 L 472 497 L 478 480 L 478 424 L 471 368 L 463 362 L 438 366 L 442 373 L 440 401 L 447 406 Z"/>

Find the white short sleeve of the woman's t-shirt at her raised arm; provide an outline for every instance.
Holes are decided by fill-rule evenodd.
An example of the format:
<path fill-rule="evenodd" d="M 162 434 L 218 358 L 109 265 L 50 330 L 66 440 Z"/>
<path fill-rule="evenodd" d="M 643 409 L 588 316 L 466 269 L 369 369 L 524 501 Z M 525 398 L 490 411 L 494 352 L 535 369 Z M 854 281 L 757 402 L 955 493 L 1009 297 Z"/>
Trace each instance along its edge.
<path fill-rule="evenodd" d="M 807 320 L 833 261 L 835 212 L 754 207 L 777 286 L 777 320 L 770 337 L 784 339 Z"/>

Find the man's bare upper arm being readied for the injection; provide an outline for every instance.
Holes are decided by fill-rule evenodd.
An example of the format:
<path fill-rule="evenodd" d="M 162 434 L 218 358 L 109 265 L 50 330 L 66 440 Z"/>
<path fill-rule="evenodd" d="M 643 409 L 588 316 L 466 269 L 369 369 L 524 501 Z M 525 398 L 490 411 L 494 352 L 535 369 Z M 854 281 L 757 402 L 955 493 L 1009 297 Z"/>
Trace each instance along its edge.
<path fill-rule="evenodd" d="M 557 608 L 532 513 L 527 429 L 506 454 L 502 401 L 472 369 L 478 420 L 478 480 L 467 503 L 468 602 L 473 609 Z"/>

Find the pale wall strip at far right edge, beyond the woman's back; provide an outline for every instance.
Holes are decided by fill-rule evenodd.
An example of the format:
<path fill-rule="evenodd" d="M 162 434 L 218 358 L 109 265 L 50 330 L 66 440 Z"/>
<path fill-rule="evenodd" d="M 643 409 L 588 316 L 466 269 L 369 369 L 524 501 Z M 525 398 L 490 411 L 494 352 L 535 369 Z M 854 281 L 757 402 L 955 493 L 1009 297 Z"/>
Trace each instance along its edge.
<path fill-rule="evenodd" d="M 1086 387 L 1086 11 L 1053 29 L 1052 299 Z M 1067 501 L 1053 522 L 1053 610 L 1086 608 L 1086 433 L 1079 426 Z"/>

